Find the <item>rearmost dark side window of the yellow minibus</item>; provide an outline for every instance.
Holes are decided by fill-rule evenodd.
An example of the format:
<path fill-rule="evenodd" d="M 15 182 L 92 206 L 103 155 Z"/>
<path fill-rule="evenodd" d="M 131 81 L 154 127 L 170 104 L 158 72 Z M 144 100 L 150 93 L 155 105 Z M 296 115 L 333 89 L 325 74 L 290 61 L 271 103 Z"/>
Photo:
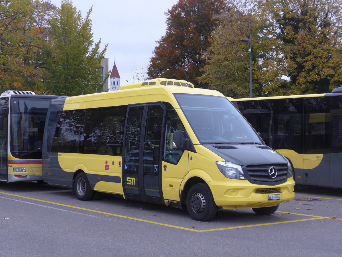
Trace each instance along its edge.
<path fill-rule="evenodd" d="M 52 152 L 78 152 L 83 110 L 63 111 L 57 122 Z"/>

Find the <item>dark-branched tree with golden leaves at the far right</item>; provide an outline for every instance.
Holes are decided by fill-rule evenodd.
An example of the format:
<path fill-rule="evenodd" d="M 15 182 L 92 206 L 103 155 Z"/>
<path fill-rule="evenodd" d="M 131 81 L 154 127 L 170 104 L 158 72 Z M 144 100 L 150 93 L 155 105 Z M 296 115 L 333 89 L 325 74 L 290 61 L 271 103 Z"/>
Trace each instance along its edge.
<path fill-rule="evenodd" d="M 342 85 L 341 0 L 258 3 L 268 21 L 261 33 L 281 42 L 277 49 L 287 65 L 287 93 L 327 93 Z"/>

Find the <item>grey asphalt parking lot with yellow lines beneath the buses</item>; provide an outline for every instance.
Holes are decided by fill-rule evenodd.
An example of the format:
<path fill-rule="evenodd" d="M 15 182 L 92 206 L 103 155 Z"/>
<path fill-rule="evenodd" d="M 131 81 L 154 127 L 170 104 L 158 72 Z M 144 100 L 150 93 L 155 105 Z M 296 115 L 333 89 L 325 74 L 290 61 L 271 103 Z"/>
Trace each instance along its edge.
<path fill-rule="evenodd" d="M 271 216 L 186 211 L 68 188 L 0 183 L 1 256 L 341 256 L 342 189 L 306 187 Z"/>

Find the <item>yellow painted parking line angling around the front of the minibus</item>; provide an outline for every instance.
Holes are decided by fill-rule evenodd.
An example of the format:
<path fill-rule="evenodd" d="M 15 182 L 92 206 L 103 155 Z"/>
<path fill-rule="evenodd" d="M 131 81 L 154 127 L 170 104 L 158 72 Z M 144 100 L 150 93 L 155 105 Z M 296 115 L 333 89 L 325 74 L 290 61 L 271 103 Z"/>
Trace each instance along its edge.
<path fill-rule="evenodd" d="M 74 208 L 74 209 L 79 209 L 79 210 L 91 211 L 91 212 L 101 213 L 101 214 L 105 214 L 105 215 L 110 215 L 110 216 L 115 216 L 115 217 L 120 217 L 120 218 L 125 218 L 125 219 L 131 219 L 131 220 L 136 220 L 136 221 L 143 221 L 143 222 L 147 222 L 147 223 L 162 225 L 162 226 L 171 227 L 171 228 L 176 228 L 176 229 L 183 229 L 183 230 L 188 230 L 188 231 L 194 231 L 194 232 L 208 232 L 208 231 L 218 231 L 218 230 L 228 230 L 228 229 L 240 229 L 240 228 L 249 228 L 249 227 L 257 227 L 257 226 L 265 226 L 265 225 L 274 225 L 274 224 L 282 224 L 282 223 L 291 223 L 291 222 L 298 222 L 298 221 L 317 220 L 317 219 L 330 219 L 330 218 L 328 218 L 328 217 L 320 217 L 320 216 L 305 215 L 305 214 L 299 214 L 299 213 L 289 213 L 289 212 L 277 211 L 277 212 L 282 212 L 282 213 L 289 213 L 289 214 L 293 214 L 293 215 L 302 215 L 302 216 L 314 217 L 314 218 L 302 219 L 302 220 L 291 220 L 291 221 L 272 222 L 272 223 L 264 223 L 264 224 L 245 225 L 245 226 L 228 227 L 228 228 L 219 228 L 219 229 L 196 230 L 196 229 L 189 229 L 189 228 L 184 228 L 184 227 L 169 225 L 169 224 L 165 224 L 165 223 L 159 223 L 159 222 L 155 222 L 155 221 L 137 219 L 137 218 L 128 217 L 128 216 L 123 216 L 123 215 L 118 215 L 118 214 L 113 214 L 113 213 L 109 213 L 109 212 L 103 212 L 103 211 L 91 210 L 91 209 L 86 209 L 86 208 L 77 207 L 77 206 L 72 206 L 72 205 L 54 203 L 54 202 L 51 202 L 51 201 L 45 201 L 45 200 L 36 199 L 36 198 L 31 198 L 31 197 L 27 197 L 27 196 L 15 195 L 15 194 L 4 193 L 4 192 L 0 192 L 0 194 L 11 195 L 11 196 L 15 196 L 15 197 L 20 197 L 20 198 L 25 198 L 25 199 L 40 201 L 40 202 L 43 202 L 43 203 L 49 203 L 49 204 L 53 204 L 53 205 L 59 205 L 59 206 L 64 206 L 64 207 L 69 207 L 69 208 Z"/>

